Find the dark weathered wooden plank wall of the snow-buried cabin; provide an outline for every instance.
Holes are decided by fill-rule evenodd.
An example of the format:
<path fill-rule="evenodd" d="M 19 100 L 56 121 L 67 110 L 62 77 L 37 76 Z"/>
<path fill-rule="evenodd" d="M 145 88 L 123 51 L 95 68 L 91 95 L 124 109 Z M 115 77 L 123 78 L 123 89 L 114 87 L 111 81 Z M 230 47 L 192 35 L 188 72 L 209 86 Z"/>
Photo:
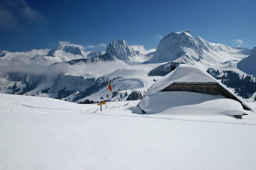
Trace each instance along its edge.
<path fill-rule="evenodd" d="M 200 83 L 200 82 L 175 82 L 171 85 L 167 86 L 161 91 L 190 91 L 196 93 L 203 93 L 203 94 L 212 94 L 212 95 L 220 95 L 224 96 L 228 99 L 233 99 L 241 103 L 244 109 L 250 110 L 243 102 L 236 98 L 233 94 L 227 91 L 225 88 L 221 87 L 216 82 L 208 82 L 208 83 Z"/>

